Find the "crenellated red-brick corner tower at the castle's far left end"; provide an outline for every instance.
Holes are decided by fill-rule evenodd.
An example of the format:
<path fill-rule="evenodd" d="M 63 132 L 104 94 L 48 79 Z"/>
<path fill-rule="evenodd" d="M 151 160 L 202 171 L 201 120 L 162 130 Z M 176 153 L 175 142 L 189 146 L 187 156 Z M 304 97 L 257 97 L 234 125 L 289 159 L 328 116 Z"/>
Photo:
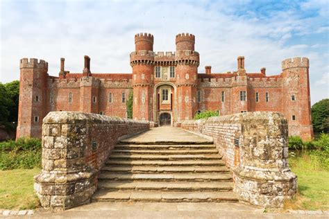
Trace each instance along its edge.
<path fill-rule="evenodd" d="M 48 62 L 23 58 L 19 62 L 19 108 L 16 138 L 40 137 L 47 115 Z"/>

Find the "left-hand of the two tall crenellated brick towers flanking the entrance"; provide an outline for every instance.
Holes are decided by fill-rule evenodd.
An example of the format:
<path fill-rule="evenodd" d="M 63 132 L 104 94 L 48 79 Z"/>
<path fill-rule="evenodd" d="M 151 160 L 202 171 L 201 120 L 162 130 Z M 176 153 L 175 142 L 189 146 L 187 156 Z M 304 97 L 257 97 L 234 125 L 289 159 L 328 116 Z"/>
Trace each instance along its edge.
<path fill-rule="evenodd" d="M 133 67 L 133 119 L 153 121 L 153 35 L 135 35 L 135 51 L 130 53 L 130 66 Z"/>

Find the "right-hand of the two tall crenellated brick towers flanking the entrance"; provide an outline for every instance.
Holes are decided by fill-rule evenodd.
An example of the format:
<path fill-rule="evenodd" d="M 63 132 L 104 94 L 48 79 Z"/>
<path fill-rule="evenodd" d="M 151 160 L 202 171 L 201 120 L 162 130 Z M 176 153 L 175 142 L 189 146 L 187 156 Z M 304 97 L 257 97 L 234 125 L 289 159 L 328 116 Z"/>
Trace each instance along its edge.
<path fill-rule="evenodd" d="M 194 51 L 195 37 L 189 33 L 176 35 L 177 121 L 192 119 L 196 110 L 196 85 L 199 53 Z"/>

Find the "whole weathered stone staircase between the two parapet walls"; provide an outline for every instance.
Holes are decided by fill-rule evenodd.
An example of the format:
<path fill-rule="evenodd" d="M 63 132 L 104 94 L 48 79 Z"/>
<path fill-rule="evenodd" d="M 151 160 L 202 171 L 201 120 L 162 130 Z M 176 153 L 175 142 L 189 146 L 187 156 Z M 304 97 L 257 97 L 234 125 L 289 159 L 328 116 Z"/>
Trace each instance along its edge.
<path fill-rule="evenodd" d="M 212 141 L 131 141 L 115 147 L 94 202 L 237 202 Z"/>

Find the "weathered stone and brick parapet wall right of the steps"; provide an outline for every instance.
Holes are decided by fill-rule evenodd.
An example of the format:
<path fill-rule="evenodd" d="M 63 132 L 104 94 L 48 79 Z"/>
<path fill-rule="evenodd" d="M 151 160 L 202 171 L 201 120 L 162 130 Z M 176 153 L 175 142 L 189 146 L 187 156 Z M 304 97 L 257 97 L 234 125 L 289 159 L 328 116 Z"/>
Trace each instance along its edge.
<path fill-rule="evenodd" d="M 283 207 L 296 194 L 288 166 L 287 120 L 276 112 L 247 112 L 184 121 L 182 128 L 212 137 L 233 172 L 241 202 Z"/>

